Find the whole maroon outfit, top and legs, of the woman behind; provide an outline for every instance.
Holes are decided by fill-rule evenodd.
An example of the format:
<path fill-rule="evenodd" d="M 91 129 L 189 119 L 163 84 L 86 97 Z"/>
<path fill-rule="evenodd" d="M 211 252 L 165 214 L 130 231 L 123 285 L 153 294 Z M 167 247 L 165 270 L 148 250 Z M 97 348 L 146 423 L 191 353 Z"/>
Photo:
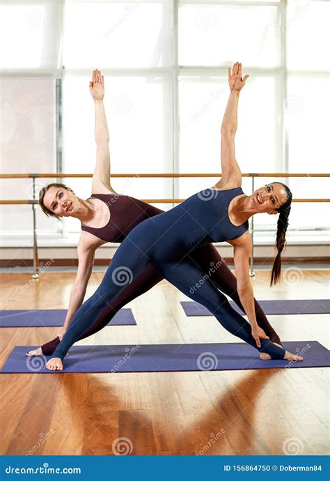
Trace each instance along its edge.
<path fill-rule="evenodd" d="M 122 242 L 137 224 L 143 222 L 143 220 L 146 220 L 149 217 L 164 212 L 157 207 L 151 206 L 150 204 L 146 204 L 146 202 L 134 199 L 134 197 L 129 197 L 127 195 L 92 194 L 91 198 L 100 199 L 109 206 L 110 220 L 107 225 L 100 228 L 88 227 L 81 224 L 81 230 L 87 231 L 97 238 L 107 242 Z M 198 264 L 201 270 L 210 277 L 212 282 L 217 285 L 218 289 L 232 298 L 244 311 L 237 293 L 236 277 L 228 268 L 226 262 L 223 260 L 214 245 L 207 244 L 203 245 L 203 247 L 198 247 L 196 250 L 192 251 L 189 256 L 196 264 Z M 217 266 L 217 268 L 210 269 L 210 266 Z M 102 322 L 95 321 L 80 339 L 84 339 L 85 337 L 97 333 L 97 331 L 104 328 L 104 326 L 107 326 L 107 323 L 109 323 L 121 307 L 136 297 L 141 296 L 141 294 L 151 289 L 151 287 L 154 287 L 162 279 L 162 276 L 157 273 L 151 264 L 149 264 L 146 270 L 144 270 L 143 273 L 131 284 L 128 284 L 113 303 L 111 303 L 112 310 L 109 310 L 110 312 L 107 319 Z M 265 330 L 266 335 L 269 336 L 271 341 L 281 344 L 281 340 L 267 321 L 265 313 L 262 311 L 262 308 L 256 300 L 255 309 L 256 319 L 260 328 Z M 59 342 L 60 340 L 56 337 L 56 339 L 43 344 L 43 346 L 41 346 L 42 353 L 46 356 L 52 355 Z"/>

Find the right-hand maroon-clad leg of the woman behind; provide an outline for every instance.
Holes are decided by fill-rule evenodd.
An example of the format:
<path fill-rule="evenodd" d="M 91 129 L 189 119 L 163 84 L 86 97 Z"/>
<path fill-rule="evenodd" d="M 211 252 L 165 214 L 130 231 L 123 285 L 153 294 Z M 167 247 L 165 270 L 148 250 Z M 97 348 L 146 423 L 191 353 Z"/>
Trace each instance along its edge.
<path fill-rule="evenodd" d="M 189 257 L 201 267 L 203 273 L 208 275 L 222 292 L 232 298 L 239 308 L 245 312 L 237 293 L 237 279 L 214 245 L 207 244 L 198 247 L 198 249 L 190 252 Z M 282 344 L 281 339 L 270 325 L 265 312 L 263 312 L 262 307 L 256 299 L 254 300 L 254 307 L 258 326 L 265 331 L 272 342 Z"/>

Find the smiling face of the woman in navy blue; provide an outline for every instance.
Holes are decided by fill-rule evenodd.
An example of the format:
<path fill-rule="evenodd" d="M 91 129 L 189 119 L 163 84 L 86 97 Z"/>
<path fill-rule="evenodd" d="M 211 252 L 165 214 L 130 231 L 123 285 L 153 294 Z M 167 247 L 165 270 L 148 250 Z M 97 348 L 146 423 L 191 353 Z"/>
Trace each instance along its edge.
<path fill-rule="evenodd" d="M 251 206 L 257 212 L 278 214 L 275 209 L 280 208 L 288 199 L 288 194 L 280 183 L 271 183 L 260 187 L 249 196 Z"/>

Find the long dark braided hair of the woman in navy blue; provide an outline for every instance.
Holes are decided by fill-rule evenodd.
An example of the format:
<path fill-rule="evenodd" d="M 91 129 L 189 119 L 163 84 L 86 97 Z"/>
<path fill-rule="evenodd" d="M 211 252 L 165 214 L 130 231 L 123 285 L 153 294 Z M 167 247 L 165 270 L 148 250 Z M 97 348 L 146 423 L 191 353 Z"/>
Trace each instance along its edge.
<path fill-rule="evenodd" d="M 278 280 L 281 277 L 281 252 L 285 246 L 285 234 L 288 229 L 288 219 L 289 214 L 291 211 L 291 202 L 292 202 L 292 192 L 288 188 L 288 185 L 285 185 L 281 182 L 276 182 L 278 184 L 283 185 L 286 192 L 286 197 L 283 201 L 281 207 L 276 208 L 275 210 L 280 214 L 277 221 L 277 232 L 276 232 L 276 249 L 277 255 L 274 260 L 273 268 L 272 268 L 272 277 L 270 280 L 270 285 L 277 284 Z"/>

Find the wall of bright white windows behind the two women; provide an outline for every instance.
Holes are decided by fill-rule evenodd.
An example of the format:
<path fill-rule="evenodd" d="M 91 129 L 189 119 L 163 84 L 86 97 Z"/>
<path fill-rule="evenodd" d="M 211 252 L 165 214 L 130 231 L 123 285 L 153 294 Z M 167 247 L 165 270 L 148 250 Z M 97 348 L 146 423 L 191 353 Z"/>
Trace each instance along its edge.
<path fill-rule="evenodd" d="M 93 68 L 106 82 L 113 173 L 220 171 L 235 61 L 250 74 L 239 100 L 242 172 L 329 171 L 329 1 L 20 0 L 2 1 L 0 19 L 3 172 L 93 172 Z M 280 180 L 298 198 L 329 190 L 321 179 Z M 134 177 L 113 187 L 141 199 L 184 198 L 215 181 Z M 90 179 L 67 183 L 91 194 Z M 249 179 L 243 187 L 251 193 Z M 2 199 L 31 192 L 31 181 L 1 181 Z M 294 204 L 290 229 L 327 227 L 328 206 Z M 30 206 L 1 206 L 1 217 L 3 233 L 31 232 Z M 274 216 L 255 219 L 256 229 L 275 224 Z M 63 227 L 38 209 L 40 232 L 66 236 L 80 226 Z"/>

